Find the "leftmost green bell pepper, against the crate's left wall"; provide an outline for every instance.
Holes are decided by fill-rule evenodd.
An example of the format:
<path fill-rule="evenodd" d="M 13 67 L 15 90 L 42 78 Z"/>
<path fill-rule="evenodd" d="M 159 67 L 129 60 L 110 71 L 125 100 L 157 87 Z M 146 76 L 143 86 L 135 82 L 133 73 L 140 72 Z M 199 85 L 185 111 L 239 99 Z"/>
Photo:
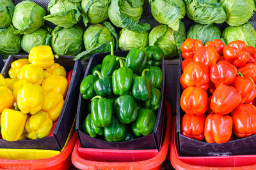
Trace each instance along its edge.
<path fill-rule="evenodd" d="M 83 95 L 83 98 L 88 100 L 92 99 L 92 97 L 96 96 L 94 91 L 94 83 L 98 78 L 95 75 L 89 75 L 84 78 L 84 80 L 80 84 L 80 93 Z"/>

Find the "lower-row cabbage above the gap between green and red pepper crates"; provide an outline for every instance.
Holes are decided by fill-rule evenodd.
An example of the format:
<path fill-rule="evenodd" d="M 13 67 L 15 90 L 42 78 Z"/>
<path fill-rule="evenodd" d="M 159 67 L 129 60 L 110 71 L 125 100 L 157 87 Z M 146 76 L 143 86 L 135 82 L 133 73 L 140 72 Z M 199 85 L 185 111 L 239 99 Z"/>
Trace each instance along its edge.
<path fill-rule="evenodd" d="M 180 22 L 179 31 L 173 31 L 168 25 L 157 25 L 150 31 L 148 43 L 151 46 L 159 46 L 166 58 L 172 58 L 180 53 L 180 46 L 186 40 L 186 30 L 183 22 Z"/>

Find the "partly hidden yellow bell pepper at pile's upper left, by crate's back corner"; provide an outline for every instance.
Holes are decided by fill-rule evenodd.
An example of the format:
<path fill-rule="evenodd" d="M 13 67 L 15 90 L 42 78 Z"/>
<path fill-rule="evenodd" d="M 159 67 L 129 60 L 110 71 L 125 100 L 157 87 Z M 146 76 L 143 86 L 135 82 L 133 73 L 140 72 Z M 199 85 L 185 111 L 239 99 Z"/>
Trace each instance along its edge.
<path fill-rule="evenodd" d="M 10 78 L 17 78 L 20 69 L 25 65 L 29 64 L 28 59 L 15 60 L 11 64 L 11 68 L 8 71 Z"/>

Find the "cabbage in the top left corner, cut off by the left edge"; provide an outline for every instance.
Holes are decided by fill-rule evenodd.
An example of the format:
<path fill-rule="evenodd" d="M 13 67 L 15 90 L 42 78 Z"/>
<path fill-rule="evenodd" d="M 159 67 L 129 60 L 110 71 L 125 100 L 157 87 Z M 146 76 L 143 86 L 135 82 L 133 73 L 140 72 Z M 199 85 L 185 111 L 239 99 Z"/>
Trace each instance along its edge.
<path fill-rule="evenodd" d="M 14 4 L 12 0 L 2 0 L 0 3 L 0 29 L 12 23 Z"/>

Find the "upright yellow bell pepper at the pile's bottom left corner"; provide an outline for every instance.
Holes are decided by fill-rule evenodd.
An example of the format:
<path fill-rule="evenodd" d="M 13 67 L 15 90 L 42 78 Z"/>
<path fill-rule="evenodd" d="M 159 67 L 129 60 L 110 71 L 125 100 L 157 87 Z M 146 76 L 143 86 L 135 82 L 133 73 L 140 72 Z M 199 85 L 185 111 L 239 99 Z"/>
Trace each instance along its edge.
<path fill-rule="evenodd" d="M 1 116 L 1 133 L 6 141 L 17 141 L 22 136 L 28 115 L 21 111 L 5 109 Z"/>

